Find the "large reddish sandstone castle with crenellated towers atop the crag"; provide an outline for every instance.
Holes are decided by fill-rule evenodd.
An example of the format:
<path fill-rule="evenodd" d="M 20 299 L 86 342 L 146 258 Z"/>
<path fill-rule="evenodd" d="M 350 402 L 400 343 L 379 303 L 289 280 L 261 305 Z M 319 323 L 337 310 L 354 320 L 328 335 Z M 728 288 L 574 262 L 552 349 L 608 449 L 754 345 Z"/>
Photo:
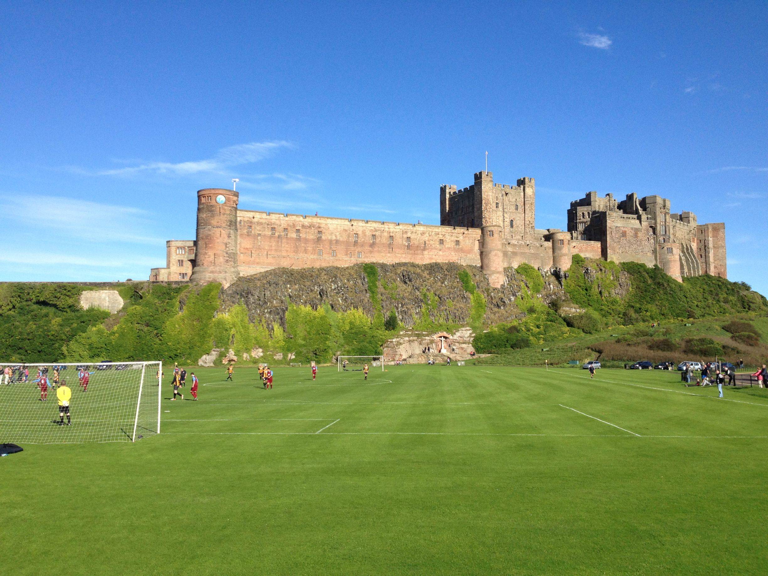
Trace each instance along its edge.
<path fill-rule="evenodd" d="M 226 287 L 239 276 L 277 267 L 455 262 L 481 266 L 498 287 L 507 266 L 567 270 L 574 254 L 657 264 L 680 281 L 727 277 L 725 224 L 698 224 L 690 212 L 670 214 L 670 201 L 655 195 L 617 201 L 589 192 L 571 202 L 568 231 L 535 227 L 533 178 L 495 184 L 488 171 L 462 190 L 440 187 L 439 226 L 240 210 L 237 200 L 234 190 L 199 190 L 197 240 L 168 240 L 166 266 L 153 268 L 150 280 Z"/>

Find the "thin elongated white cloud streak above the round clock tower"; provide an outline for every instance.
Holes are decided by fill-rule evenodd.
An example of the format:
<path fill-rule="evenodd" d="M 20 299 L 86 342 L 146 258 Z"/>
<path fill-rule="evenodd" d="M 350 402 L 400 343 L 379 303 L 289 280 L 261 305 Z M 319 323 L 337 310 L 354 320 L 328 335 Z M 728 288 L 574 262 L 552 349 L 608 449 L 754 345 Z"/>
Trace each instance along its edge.
<path fill-rule="evenodd" d="M 204 160 L 184 162 L 144 162 L 137 166 L 100 170 L 96 174 L 101 176 L 131 176 L 134 174 L 162 174 L 166 176 L 188 176 L 203 172 L 221 172 L 227 168 L 243 166 L 258 162 L 280 148 L 290 147 L 286 141 L 250 142 L 250 144 L 237 144 L 222 148 L 213 157 Z M 82 170 L 77 167 L 68 167 L 70 170 Z"/>

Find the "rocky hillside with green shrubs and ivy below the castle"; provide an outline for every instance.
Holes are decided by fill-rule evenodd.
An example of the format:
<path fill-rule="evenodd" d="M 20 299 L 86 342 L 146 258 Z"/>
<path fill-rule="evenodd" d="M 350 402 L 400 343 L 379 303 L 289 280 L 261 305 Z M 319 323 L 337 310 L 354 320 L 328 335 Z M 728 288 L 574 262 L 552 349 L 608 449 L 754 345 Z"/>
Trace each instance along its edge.
<path fill-rule="evenodd" d="M 579 339 L 588 340 L 584 350 L 593 355 L 634 354 L 615 341 L 632 326 L 718 318 L 721 330 L 728 319 L 768 313 L 766 299 L 743 283 L 715 276 L 678 283 L 637 263 L 576 256 L 561 278 L 527 264 L 505 272 L 500 289 L 489 286 L 477 266 L 454 263 L 276 269 L 240 278 L 226 290 L 218 284 L 118 284 L 124 306 L 114 314 L 81 310 L 80 293 L 93 286 L 6 283 L 0 285 L 0 357 L 194 362 L 219 348 L 232 349 L 241 362 L 288 362 L 293 356 L 327 362 L 336 353 L 379 353 L 404 327 L 429 332 L 472 326 L 478 352 L 538 363 L 536 349 Z M 611 333 L 620 335 L 612 343 Z M 763 353 L 762 334 L 757 341 L 738 334 L 711 338 L 720 338 L 723 352 L 750 358 Z M 660 352 L 672 358 L 690 346 L 680 342 Z"/>

